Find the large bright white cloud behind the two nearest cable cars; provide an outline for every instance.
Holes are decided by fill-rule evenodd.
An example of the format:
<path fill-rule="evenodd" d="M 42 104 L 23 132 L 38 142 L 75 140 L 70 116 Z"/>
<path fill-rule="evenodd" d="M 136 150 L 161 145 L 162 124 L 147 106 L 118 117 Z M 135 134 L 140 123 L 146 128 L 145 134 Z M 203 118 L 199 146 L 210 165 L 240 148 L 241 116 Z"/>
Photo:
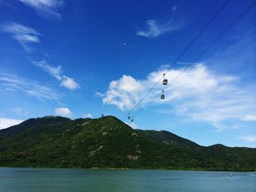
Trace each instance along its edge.
<path fill-rule="evenodd" d="M 193 120 L 211 123 L 217 128 L 239 128 L 237 122 L 244 120 L 244 114 L 256 112 L 256 88 L 239 86 L 239 78 L 231 75 L 211 72 L 203 64 L 190 67 L 183 73 L 182 69 L 159 69 L 148 74 L 146 80 L 135 80 L 124 75 L 120 80 L 110 82 L 105 104 L 116 105 L 120 110 L 132 110 L 150 88 L 158 82 L 163 73 L 172 82 L 169 86 L 159 85 L 152 89 L 140 103 L 165 104 L 165 110 Z M 165 89 L 165 100 L 159 99 L 159 93 Z M 154 99 L 157 96 L 157 99 Z M 140 107 L 138 107 L 140 109 Z M 246 116 L 253 120 L 252 116 Z M 236 123 L 234 124 L 234 122 Z"/>

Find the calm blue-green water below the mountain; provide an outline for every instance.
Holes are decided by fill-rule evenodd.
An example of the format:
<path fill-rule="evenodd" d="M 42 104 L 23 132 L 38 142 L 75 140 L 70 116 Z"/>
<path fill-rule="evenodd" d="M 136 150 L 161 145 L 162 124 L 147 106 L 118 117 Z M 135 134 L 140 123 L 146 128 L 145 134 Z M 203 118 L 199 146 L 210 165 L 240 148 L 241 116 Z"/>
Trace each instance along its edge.
<path fill-rule="evenodd" d="M 0 168 L 1 192 L 255 192 L 256 172 Z"/>

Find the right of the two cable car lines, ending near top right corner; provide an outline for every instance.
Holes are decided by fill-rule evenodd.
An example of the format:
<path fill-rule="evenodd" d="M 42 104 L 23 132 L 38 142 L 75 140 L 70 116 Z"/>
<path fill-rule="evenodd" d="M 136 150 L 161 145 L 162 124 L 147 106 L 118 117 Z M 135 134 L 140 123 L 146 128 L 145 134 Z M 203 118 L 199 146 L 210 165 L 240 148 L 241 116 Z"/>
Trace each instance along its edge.
<path fill-rule="evenodd" d="M 227 34 L 228 31 L 230 31 L 231 28 L 233 28 L 233 26 L 236 25 L 236 23 L 238 22 L 238 20 L 240 20 L 241 18 L 243 18 L 247 12 L 249 12 L 253 6 L 255 6 L 256 4 L 256 0 L 252 2 L 252 4 L 249 5 L 249 7 L 247 7 L 244 12 L 241 12 L 241 14 L 235 19 L 233 20 L 233 23 L 231 23 L 227 28 L 225 28 L 224 31 L 222 31 L 221 34 L 219 34 L 219 36 L 217 38 L 214 39 L 213 42 L 211 42 L 210 45 L 208 45 L 208 47 L 206 47 L 199 55 L 197 55 L 197 57 L 192 61 L 192 65 L 194 65 L 200 58 L 202 58 L 202 56 L 208 52 L 208 50 L 211 50 L 211 47 L 213 47 L 214 45 L 217 44 L 217 42 L 219 42 L 220 39 L 222 39 L 222 37 L 225 36 L 225 34 Z M 187 68 L 189 68 L 189 66 L 192 66 L 191 64 L 187 65 L 186 67 L 184 67 L 184 69 L 181 70 L 181 72 L 170 82 L 169 85 L 166 86 L 166 88 L 168 88 Z M 166 89 L 165 88 L 165 89 Z M 164 90 L 165 90 L 164 89 Z M 163 91 L 164 91 L 163 90 Z M 159 94 L 157 94 L 157 96 L 159 96 Z M 151 101 L 154 101 L 154 99 L 157 98 L 157 96 L 154 96 L 153 99 L 151 99 L 150 101 L 148 101 L 147 104 L 145 104 L 143 107 L 140 108 L 140 110 L 138 110 L 138 112 L 136 112 L 133 117 L 135 117 L 136 115 L 138 115 L 143 109 L 145 109 L 145 107 L 151 103 Z"/>

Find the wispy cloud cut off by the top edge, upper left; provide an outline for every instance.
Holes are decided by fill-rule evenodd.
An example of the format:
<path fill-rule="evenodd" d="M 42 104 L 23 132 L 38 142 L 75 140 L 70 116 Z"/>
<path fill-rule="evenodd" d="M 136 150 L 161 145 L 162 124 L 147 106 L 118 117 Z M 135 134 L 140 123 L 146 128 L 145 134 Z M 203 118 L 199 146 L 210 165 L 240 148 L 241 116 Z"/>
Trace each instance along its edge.
<path fill-rule="evenodd" d="M 64 4 L 62 0 L 19 0 L 37 11 L 42 18 L 54 18 L 61 20 L 59 8 Z"/>

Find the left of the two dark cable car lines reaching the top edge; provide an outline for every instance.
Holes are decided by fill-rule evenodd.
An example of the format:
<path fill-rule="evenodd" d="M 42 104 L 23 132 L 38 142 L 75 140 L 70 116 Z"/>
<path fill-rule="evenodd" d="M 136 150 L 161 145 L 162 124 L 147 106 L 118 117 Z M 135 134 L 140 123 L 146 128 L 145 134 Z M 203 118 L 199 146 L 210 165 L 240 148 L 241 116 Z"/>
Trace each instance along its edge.
<path fill-rule="evenodd" d="M 170 67 L 167 70 L 170 70 L 177 62 L 178 60 L 184 55 L 184 53 L 187 52 L 187 50 L 189 49 L 189 47 L 191 47 L 194 42 L 203 34 L 203 31 L 206 30 L 206 28 L 208 28 L 208 26 L 210 26 L 210 24 L 212 23 L 212 21 L 217 18 L 217 15 L 219 15 L 220 12 L 222 12 L 222 10 L 226 7 L 226 5 L 229 3 L 230 0 L 226 0 L 221 7 L 219 7 L 219 9 L 217 10 L 217 12 L 214 13 L 214 15 L 211 16 L 210 20 L 208 20 L 208 22 L 206 23 L 206 25 L 203 26 L 203 28 L 201 28 L 201 30 L 196 34 L 196 36 L 192 39 L 191 42 L 189 42 L 189 44 L 187 45 L 187 47 L 185 47 L 185 49 L 181 52 L 180 55 L 178 55 L 178 58 L 176 58 L 175 61 L 173 61 L 173 64 L 170 65 Z M 166 74 L 166 72 L 165 72 Z M 140 99 L 140 101 L 138 101 L 138 104 L 135 105 L 135 107 L 132 108 L 132 110 L 130 110 L 128 113 L 131 114 L 139 105 L 140 103 L 146 98 L 146 96 L 148 96 L 148 94 L 159 84 L 160 80 L 162 79 L 162 77 L 159 78 L 159 80 L 152 86 L 152 88 L 150 88 L 148 90 L 148 92 L 143 96 L 142 99 Z M 127 116 L 129 115 L 125 115 L 124 118 L 127 118 Z M 124 118 L 122 118 L 122 120 L 124 120 Z"/>

